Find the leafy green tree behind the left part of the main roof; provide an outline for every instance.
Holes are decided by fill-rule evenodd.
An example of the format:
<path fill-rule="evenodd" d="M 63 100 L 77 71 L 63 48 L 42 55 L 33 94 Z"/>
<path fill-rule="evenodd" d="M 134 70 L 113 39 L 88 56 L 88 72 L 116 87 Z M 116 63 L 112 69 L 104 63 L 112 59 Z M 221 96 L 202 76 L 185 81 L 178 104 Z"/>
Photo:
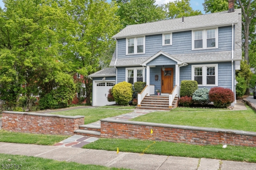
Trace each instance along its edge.
<path fill-rule="evenodd" d="M 117 15 L 120 16 L 123 27 L 165 19 L 163 6 L 155 5 L 155 0 L 117 0 L 116 2 L 119 6 Z"/>

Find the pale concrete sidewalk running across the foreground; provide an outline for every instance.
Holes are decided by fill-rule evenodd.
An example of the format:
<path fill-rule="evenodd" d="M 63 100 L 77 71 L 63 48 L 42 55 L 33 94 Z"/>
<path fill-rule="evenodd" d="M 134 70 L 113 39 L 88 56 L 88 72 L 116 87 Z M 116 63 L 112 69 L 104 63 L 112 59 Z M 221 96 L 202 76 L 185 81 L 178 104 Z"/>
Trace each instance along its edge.
<path fill-rule="evenodd" d="M 128 152 L 91 150 L 72 147 L 12 144 L 0 142 L 0 153 L 26 155 L 59 161 L 94 164 L 108 167 L 124 167 L 136 170 L 255 170 L 256 164 L 197 159 Z M 199 166 L 198 163 L 200 162 Z"/>

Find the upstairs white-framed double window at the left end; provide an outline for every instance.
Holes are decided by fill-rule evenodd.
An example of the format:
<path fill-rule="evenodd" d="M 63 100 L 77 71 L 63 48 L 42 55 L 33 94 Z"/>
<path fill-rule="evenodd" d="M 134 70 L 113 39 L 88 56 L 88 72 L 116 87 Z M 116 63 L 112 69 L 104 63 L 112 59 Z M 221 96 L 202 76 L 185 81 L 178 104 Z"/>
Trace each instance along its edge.
<path fill-rule="evenodd" d="M 126 39 L 126 55 L 145 54 L 145 36 Z"/>

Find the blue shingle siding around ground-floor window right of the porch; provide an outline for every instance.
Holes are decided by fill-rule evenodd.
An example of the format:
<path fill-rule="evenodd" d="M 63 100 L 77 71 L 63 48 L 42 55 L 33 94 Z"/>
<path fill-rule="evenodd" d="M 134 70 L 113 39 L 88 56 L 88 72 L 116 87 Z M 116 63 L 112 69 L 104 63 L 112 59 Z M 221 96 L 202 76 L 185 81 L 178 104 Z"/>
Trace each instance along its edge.
<path fill-rule="evenodd" d="M 182 80 L 191 80 L 191 65 L 216 64 L 216 63 L 193 63 L 180 67 L 180 82 Z M 231 62 L 218 63 L 218 86 L 232 89 L 232 64 Z M 199 88 L 203 88 L 200 86 Z M 212 87 L 207 86 L 210 89 Z"/>

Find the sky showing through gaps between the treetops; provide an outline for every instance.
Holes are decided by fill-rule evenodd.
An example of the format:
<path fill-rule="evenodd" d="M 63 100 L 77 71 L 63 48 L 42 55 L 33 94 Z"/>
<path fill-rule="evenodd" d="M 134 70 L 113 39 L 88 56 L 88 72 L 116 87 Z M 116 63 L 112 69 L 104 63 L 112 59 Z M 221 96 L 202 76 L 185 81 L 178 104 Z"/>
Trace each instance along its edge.
<path fill-rule="evenodd" d="M 110 2 L 111 0 L 107 0 L 107 1 Z M 155 4 L 161 5 L 161 4 L 166 4 L 170 1 L 174 1 L 174 0 L 156 0 Z M 202 11 L 203 14 L 205 14 L 204 7 L 202 5 L 203 3 L 204 3 L 204 0 L 190 0 L 191 7 L 194 10 L 200 10 Z M 0 0 L 0 6 L 4 8 L 4 3 L 2 0 Z"/>

